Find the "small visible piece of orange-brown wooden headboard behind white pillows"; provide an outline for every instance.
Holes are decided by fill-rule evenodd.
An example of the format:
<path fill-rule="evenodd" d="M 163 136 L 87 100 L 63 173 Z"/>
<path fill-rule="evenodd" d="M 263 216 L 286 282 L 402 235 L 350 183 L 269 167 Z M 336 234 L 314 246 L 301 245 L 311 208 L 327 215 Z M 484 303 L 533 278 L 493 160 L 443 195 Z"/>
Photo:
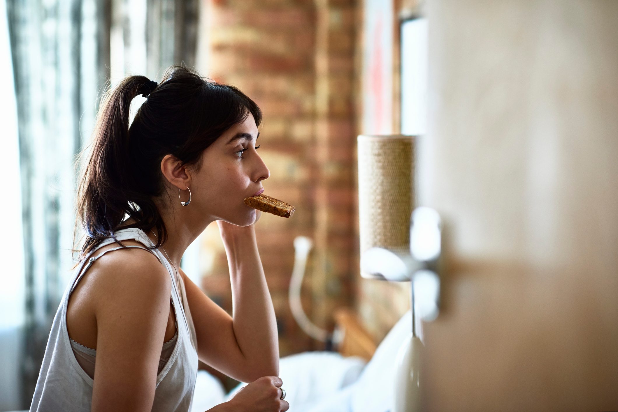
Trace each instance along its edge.
<path fill-rule="evenodd" d="M 337 351 L 342 356 L 358 356 L 369 361 L 376 351 L 373 337 L 350 308 L 337 308 L 334 312 L 335 329 L 343 334 Z"/>

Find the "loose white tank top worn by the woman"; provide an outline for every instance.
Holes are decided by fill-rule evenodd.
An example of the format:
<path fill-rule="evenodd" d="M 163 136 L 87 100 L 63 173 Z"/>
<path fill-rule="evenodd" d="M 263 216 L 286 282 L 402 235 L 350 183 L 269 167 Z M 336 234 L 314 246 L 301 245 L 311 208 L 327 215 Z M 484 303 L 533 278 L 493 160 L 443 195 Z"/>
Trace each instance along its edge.
<path fill-rule="evenodd" d="M 116 238 L 117 240 L 135 239 L 147 246 L 154 246 L 143 230 L 134 227 L 117 230 Z M 110 243 L 114 243 L 114 239 L 103 240 L 74 269 L 72 280 L 67 285 L 56 311 L 56 316 L 54 316 L 30 411 L 77 412 L 90 411 L 91 409 L 94 380 L 88 376 L 75 358 L 67 332 L 67 305 L 70 293 L 73 292 L 91 264 L 104 253 L 121 248 L 121 246 L 117 246 L 96 254 L 98 248 Z M 126 246 L 145 249 L 143 246 Z M 152 411 L 186 412 L 191 407 L 197 378 L 198 358 L 195 327 L 193 327 L 193 319 L 188 308 L 187 294 L 182 277 L 177 280 L 176 272 L 161 251 L 156 249 L 151 252 L 163 263 L 171 276 L 171 298 L 176 312 L 177 326 L 174 349 L 156 377 L 155 401 Z"/>

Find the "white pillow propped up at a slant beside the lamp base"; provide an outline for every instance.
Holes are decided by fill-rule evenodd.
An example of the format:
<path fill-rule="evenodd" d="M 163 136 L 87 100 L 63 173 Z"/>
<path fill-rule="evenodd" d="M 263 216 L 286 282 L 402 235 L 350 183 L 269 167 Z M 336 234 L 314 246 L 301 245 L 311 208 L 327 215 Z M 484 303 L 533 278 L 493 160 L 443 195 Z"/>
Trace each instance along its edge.
<path fill-rule="evenodd" d="M 352 392 L 353 412 L 385 412 L 394 409 L 397 353 L 412 335 L 412 311 L 391 328 L 363 369 Z M 291 409 L 291 408 L 290 408 Z"/>

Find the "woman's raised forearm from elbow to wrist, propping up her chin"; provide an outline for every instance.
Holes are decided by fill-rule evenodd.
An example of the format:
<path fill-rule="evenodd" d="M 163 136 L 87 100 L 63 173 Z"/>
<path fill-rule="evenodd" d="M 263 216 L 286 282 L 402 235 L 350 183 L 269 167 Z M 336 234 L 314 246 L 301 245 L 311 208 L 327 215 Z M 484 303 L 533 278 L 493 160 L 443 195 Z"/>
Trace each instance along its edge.
<path fill-rule="evenodd" d="M 253 225 L 222 232 L 232 284 L 234 334 L 255 379 L 279 376 L 277 323 Z"/>

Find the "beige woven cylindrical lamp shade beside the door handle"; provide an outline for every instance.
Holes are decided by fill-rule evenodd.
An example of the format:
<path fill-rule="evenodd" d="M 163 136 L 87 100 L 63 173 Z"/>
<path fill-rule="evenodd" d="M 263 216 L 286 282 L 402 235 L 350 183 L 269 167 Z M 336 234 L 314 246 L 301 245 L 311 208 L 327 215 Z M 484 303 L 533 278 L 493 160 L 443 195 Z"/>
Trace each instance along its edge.
<path fill-rule="evenodd" d="M 358 218 L 360 253 L 386 248 L 410 253 L 414 137 L 359 135 Z M 366 279 L 382 279 L 361 271 Z"/>

